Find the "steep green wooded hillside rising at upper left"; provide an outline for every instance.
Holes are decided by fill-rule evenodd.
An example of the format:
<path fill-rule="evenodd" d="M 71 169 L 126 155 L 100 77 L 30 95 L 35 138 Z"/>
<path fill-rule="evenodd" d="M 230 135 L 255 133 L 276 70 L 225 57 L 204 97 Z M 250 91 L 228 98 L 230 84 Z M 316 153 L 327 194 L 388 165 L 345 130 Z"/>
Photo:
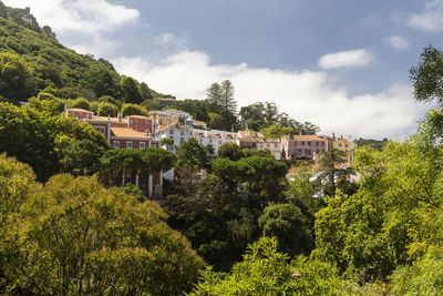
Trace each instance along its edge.
<path fill-rule="evenodd" d="M 51 28 L 41 28 L 29 9 L 0 1 L 0 95 L 25 101 L 45 90 L 62 99 L 90 101 L 111 95 L 126 103 L 165 96 L 146 83 L 120 75 L 104 59 L 79 54 L 61 44 Z"/>

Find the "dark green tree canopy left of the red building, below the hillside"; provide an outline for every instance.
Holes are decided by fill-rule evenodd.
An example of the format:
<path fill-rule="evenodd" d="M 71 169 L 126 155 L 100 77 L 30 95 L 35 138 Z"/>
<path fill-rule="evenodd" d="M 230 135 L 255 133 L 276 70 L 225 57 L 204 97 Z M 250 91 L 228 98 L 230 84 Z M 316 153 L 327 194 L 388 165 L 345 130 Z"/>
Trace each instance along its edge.
<path fill-rule="evenodd" d="M 39 181 L 61 171 L 94 173 L 107 149 L 92 126 L 61 116 L 58 101 L 30 99 L 21 108 L 0 103 L 0 151 L 31 165 Z"/>

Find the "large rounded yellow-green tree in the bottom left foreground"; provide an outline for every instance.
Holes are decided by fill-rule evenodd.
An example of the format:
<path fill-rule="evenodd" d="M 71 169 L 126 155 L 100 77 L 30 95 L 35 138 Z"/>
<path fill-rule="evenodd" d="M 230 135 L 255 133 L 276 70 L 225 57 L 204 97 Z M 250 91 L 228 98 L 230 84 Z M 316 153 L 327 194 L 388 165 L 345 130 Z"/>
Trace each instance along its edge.
<path fill-rule="evenodd" d="M 14 218 L 11 216 L 11 218 Z M 7 294 L 177 295 L 203 261 L 167 227 L 158 205 L 140 203 L 93 177 L 58 175 L 29 193 L 7 242 Z M 7 246 L 11 247 L 11 246 Z"/>

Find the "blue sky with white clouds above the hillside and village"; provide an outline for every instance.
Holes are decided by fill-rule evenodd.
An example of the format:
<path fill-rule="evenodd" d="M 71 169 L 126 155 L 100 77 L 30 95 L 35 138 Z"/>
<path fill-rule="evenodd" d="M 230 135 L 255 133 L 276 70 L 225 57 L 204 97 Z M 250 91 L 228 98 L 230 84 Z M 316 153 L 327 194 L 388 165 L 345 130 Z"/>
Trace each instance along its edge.
<path fill-rule="evenodd" d="M 63 44 L 178 100 L 231 80 L 321 133 L 404 139 L 432 108 L 409 69 L 443 47 L 443 0 L 3 0 Z"/>

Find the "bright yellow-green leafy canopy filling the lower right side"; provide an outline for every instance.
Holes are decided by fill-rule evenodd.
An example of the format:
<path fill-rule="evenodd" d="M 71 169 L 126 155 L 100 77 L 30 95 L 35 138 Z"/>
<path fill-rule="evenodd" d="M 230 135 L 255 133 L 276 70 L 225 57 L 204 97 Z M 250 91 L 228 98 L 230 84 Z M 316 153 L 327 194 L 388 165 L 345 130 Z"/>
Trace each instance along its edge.
<path fill-rule="evenodd" d="M 317 214 L 320 254 L 362 280 L 387 278 L 440 244 L 443 150 L 429 121 L 404 143 L 356 155 L 361 176 L 352 196 L 337 194 Z"/>

